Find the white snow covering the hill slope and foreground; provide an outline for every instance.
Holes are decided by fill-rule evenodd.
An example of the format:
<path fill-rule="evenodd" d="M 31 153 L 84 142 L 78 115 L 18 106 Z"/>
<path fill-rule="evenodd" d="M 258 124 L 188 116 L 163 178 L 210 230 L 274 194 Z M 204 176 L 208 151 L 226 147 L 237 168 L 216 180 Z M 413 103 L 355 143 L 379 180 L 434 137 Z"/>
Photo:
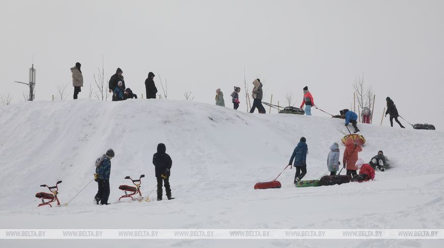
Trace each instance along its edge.
<path fill-rule="evenodd" d="M 243 108 L 242 108 L 243 107 Z M 241 106 L 244 109 L 244 106 Z M 307 175 L 327 171 L 343 120 L 244 110 L 188 101 L 77 100 L 0 107 L 0 229 L 442 229 L 444 133 L 359 124 L 367 142 L 359 157 L 379 150 L 392 168 L 375 181 L 295 188 L 295 169 L 281 189 L 255 190 L 288 164 L 307 138 Z M 313 109 L 313 111 L 316 111 Z M 332 112 L 334 112 L 332 110 Z M 165 143 L 171 156 L 172 201 L 94 205 L 95 182 L 68 207 L 37 207 L 40 184 L 58 180 L 66 203 L 91 181 L 94 162 L 108 148 L 110 203 L 125 176 L 142 179 L 142 194 L 156 185 L 153 154 Z M 342 171 L 344 174 L 344 171 Z M 156 199 L 156 191 L 150 195 Z M 164 196 L 164 199 L 166 197 Z M 441 240 L 0 240 L 2 247 L 443 247 Z"/>

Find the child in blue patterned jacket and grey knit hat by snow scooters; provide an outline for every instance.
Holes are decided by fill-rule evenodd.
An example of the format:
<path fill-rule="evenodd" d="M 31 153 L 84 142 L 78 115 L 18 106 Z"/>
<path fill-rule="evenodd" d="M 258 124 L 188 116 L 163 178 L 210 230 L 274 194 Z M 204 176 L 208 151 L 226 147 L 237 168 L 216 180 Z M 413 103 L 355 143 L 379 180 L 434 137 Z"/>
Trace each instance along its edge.
<path fill-rule="evenodd" d="M 111 174 L 111 159 L 114 158 L 114 151 L 109 149 L 106 154 L 95 161 L 95 181 L 98 184 L 98 191 L 94 197 L 96 204 L 108 205 L 109 198 L 109 176 Z"/>

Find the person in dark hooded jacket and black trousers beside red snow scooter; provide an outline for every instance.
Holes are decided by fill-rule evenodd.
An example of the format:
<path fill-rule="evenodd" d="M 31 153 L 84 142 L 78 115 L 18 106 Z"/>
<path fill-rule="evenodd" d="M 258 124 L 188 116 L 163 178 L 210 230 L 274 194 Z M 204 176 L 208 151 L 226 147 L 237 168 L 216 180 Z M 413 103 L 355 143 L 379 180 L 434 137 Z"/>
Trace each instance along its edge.
<path fill-rule="evenodd" d="M 169 186 L 169 176 L 171 175 L 171 157 L 166 152 L 165 144 L 159 143 L 157 145 L 157 153 L 153 156 L 153 164 L 155 166 L 157 178 L 157 201 L 162 201 L 162 182 L 165 186 L 166 197 L 168 200 L 174 199 L 171 197 L 171 188 Z"/>

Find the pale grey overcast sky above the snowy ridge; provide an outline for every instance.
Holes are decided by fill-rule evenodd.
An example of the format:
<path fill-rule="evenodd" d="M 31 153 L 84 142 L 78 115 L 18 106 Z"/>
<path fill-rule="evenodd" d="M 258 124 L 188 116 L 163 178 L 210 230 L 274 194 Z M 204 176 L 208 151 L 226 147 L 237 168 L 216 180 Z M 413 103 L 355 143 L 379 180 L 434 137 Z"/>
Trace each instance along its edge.
<path fill-rule="evenodd" d="M 350 107 L 352 83 L 364 73 L 376 91 L 375 122 L 390 96 L 410 122 L 444 129 L 444 1 L 0 3 L 0 95 L 10 93 L 13 103 L 23 102 L 27 86 L 14 81 L 28 81 L 33 55 L 37 101 L 50 101 L 65 84 L 71 101 L 76 62 L 86 86 L 79 98 L 88 97 L 103 55 L 106 75 L 120 67 L 139 96 L 153 71 L 159 90 L 159 76 L 167 79 L 168 98 L 184 99 L 188 90 L 213 104 L 221 88 L 228 107 L 244 67 L 249 85 L 264 82 L 264 101 L 273 93 L 282 103 L 293 91 L 299 107 L 307 85 L 332 114 Z"/>

